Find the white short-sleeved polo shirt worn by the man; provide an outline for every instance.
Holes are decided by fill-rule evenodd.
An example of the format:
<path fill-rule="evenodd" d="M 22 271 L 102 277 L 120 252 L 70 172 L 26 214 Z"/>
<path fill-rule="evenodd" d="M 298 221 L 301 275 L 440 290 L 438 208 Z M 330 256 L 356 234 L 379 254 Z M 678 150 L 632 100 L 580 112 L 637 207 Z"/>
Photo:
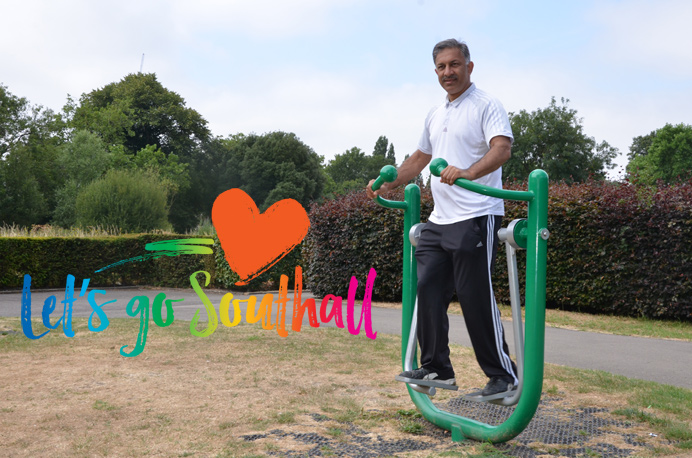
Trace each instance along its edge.
<path fill-rule="evenodd" d="M 447 98 L 428 113 L 418 149 L 433 159 L 441 157 L 449 165 L 467 169 L 485 156 L 490 140 L 498 135 L 514 139 L 507 112 L 499 100 L 471 84 L 453 102 Z M 430 221 L 435 224 L 505 213 L 502 199 L 443 184 L 436 176 L 430 182 L 435 200 Z M 502 168 L 476 182 L 501 189 Z"/>

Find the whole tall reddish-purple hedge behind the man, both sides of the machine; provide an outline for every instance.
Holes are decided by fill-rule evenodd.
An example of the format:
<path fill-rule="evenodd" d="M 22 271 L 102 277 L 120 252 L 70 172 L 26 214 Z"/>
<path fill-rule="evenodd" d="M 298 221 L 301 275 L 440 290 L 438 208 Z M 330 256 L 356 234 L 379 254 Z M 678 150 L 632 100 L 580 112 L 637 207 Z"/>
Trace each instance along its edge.
<path fill-rule="evenodd" d="M 506 186 L 526 189 L 524 183 Z M 403 200 L 403 191 L 388 198 Z M 432 210 L 422 193 L 421 219 Z M 526 204 L 506 202 L 506 226 Z M 373 296 L 401 298 L 403 211 L 380 207 L 363 192 L 314 206 L 305 241 L 308 287 L 345 295 L 356 275 L 362 294 L 377 271 Z M 554 184 L 550 188 L 547 305 L 590 313 L 692 321 L 692 183 L 645 188 L 627 183 Z M 525 252 L 519 252 L 522 285 Z M 504 247 L 495 291 L 509 302 Z"/>

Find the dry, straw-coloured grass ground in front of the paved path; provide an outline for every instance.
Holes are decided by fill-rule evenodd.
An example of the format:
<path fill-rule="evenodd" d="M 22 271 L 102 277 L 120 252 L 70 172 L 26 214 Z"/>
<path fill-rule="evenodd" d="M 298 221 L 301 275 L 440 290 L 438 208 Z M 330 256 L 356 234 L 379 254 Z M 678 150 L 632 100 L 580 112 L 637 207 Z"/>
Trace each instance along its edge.
<path fill-rule="evenodd" d="M 599 426 L 607 431 L 596 442 L 584 426 L 574 433 L 581 441 L 567 445 L 531 438 L 497 446 L 455 444 L 448 432 L 420 418 L 405 386 L 394 381 L 400 366 L 396 336 L 371 340 L 345 329 L 304 328 L 281 338 L 259 323 L 242 323 L 220 325 L 200 338 L 190 334 L 189 323 L 175 322 L 152 324 L 142 354 L 121 356 L 122 346 L 134 345 L 138 328 L 135 320 L 111 320 L 94 333 L 85 319 L 76 319 L 73 338 L 55 330 L 30 340 L 18 318 L 0 318 L 0 456 L 667 453 L 667 442 L 650 426 L 623 423 L 610 413 L 627 405 L 624 397 L 579 392 L 559 368 L 546 370 L 542 405 L 555 418 L 588 413 L 611 421 Z M 452 357 L 460 384 L 483 386 L 470 349 L 453 347 Z M 455 396 L 442 392 L 435 402 L 458 408 Z"/>

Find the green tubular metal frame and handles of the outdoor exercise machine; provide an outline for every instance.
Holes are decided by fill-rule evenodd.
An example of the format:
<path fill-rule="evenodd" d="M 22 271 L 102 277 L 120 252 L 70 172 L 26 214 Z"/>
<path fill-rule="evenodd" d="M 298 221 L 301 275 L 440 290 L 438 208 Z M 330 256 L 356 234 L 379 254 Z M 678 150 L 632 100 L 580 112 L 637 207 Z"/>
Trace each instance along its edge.
<path fill-rule="evenodd" d="M 435 159 L 430 170 L 439 176 L 447 163 Z M 396 169 L 385 166 L 380 177 L 375 180 L 373 189 L 377 190 L 387 181 L 396 179 Z M 524 387 L 521 398 L 510 417 L 502 424 L 491 426 L 466 417 L 438 409 L 430 397 L 414 391 L 407 385 L 411 400 L 423 416 L 431 423 L 452 432 L 452 440 L 460 442 L 465 438 L 479 441 L 504 442 L 519 435 L 529 424 L 541 398 L 543 389 L 543 358 L 545 349 L 545 287 L 546 258 L 548 239 L 548 174 L 534 170 L 529 176 L 528 191 L 512 191 L 484 186 L 469 180 L 458 179 L 456 185 L 479 194 L 507 200 L 528 202 L 527 223 L 515 237 L 524 242 L 526 237 L 526 328 L 524 343 Z M 406 186 L 404 201 L 391 201 L 376 197 L 377 202 L 386 208 L 404 210 L 404 261 L 401 320 L 401 359 L 402 367 L 406 358 L 413 309 L 416 301 L 418 276 L 416 273 L 415 248 L 409 241 L 409 231 L 420 222 L 420 189 L 415 184 Z M 520 242 L 520 243 L 521 243 Z M 523 243 L 522 243 L 523 245 Z M 417 366 L 417 359 L 415 366 Z"/>

